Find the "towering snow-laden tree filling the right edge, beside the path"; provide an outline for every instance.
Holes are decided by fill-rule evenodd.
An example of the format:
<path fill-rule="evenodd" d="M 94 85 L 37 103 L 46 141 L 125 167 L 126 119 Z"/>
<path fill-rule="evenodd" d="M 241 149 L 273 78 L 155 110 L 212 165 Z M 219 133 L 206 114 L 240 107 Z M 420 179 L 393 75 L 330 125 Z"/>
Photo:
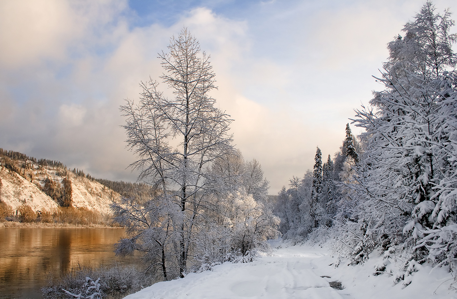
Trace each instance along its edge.
<path fill-rule="evenodd" d="M 404 37 L 388 44 L 378 78 L 385 90 L 374 94 L 372 108 L 357 111 L 368 142 L 345 182 L 355 215 L 344 225 L 356 260 L 404 244 L 407 262 L 431 260 L 455 274 L 457 36 L 449 33 L 449 11 L 435 11 L 427 2 Z"/>

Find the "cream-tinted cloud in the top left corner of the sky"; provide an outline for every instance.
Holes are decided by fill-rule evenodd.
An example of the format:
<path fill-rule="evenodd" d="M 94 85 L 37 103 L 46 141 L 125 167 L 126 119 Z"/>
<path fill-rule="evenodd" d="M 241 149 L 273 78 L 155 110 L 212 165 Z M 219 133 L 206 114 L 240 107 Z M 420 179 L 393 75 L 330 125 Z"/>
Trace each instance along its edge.
<path fill-rule="evenodd" d="M 122 22 L 119 14 L 126 7 L 125 0 L 0 1 L 0 64 L 14 69 L 65 62 L 75 50 L 115 38 L 113 27 Z"/>

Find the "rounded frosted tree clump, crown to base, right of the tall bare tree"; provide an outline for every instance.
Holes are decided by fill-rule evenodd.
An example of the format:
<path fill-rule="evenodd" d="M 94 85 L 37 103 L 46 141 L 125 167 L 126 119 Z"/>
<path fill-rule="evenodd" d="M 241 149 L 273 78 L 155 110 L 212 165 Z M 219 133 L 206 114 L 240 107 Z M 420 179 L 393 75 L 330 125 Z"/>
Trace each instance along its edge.
<path fill-rule="evenodd" d="M 279 225 L 266 200 L 268 181 L 258 161 L 244 161 L 238 150 L 216 159 L 210 175 L 215 183 L 208 199 L 211 208 L 201 218 L 200 227 L 206 229 L 200 230 L 193 248 L 204 267 L 263 246 L 265 240 L 276 238 Z"/>

